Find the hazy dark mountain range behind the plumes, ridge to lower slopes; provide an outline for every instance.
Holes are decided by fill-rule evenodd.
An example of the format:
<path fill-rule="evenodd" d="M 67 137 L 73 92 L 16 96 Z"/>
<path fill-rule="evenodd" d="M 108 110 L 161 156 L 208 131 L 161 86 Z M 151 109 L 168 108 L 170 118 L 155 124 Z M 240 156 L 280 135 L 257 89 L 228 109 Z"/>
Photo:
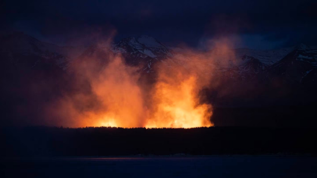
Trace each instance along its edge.
<path fill-rule="evenodd" d="M 3 111 L 7 117 L 21 117 L 16 111 L 41 111 L 43 103 L 74 90 L 68 86 L 72 82 L 69 65 L 93 57 L 102 67 L 116 54 L 121 54 L 127 65 L 137 66 L 142 78 L 155 78 L 160 66 L 172 70 L 194 65 L 217 84 L 201 91 L 204 102 L 213 106 L 309 105 L 317 98 L 317 49 L 304 44 L 275 50 L 216 48 L 201 52 L 165 46 L 141 35 L 117 43 L 60 47 L 13 32 L 2 35 L 0 41 Z M 207 62 L 195 63 L 195 58 Z"/>

